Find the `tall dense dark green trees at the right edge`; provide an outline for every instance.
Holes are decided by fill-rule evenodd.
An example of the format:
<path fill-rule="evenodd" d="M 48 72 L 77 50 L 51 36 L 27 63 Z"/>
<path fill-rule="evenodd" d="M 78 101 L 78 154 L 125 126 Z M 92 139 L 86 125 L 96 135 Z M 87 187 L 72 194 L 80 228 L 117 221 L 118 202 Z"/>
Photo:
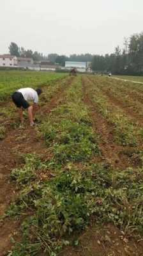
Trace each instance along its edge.
<path fill-rule="evenodd" d="M 92 69 L 112 74 L 143 75 L 143 33 L 124 38 L 124 48 L 116 47 L 114 53 L 95 55 Z"/>

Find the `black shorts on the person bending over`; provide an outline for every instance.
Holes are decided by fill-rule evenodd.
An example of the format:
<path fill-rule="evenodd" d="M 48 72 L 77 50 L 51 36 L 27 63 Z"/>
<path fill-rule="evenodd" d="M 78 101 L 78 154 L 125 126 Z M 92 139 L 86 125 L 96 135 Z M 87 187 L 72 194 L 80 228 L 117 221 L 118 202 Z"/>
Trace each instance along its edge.
<path fill-rule="evenodd" d="M 22 93 L 20 92 L 14 92 L 11 96 L 14 104 L 17 106 L 17 108 L 29 108 L 29 103 L 24 99 Z"/>

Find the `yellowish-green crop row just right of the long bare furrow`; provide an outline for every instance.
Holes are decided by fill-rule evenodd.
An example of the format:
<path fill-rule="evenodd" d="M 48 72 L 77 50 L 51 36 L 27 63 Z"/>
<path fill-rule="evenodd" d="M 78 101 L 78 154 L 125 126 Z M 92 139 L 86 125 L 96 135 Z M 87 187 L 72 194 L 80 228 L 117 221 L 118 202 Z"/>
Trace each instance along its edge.
<path fill-rule="evenodd" d="M 143 134 L 142 128 L 134 123 L 121 108 L 110 103 L 109 98 L 106 95 L 103 95 L 102 90 L 100 90 L 101 82 L 102 81 L 97 79 L 93 83 L 93 81 L 88 79 L 89 94 L 100 113 L 102 113 L 102 115 L 107 118 L 108 122 L 113 125 L 115 140 L 117 143 L 124 146 L 139 145 Z"/>

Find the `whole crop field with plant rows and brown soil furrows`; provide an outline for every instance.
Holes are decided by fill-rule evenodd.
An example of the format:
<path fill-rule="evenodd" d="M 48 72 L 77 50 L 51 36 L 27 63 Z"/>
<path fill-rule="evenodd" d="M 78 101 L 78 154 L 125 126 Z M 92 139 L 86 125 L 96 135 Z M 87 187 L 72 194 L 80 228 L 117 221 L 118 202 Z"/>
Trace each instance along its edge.
<path fill-rule="evenodd" d="M 43 88 L 34 128 L 19 84 Z M 143 85 L 1 72 L 0 88 L 0 255 L 143 255 Z"/>

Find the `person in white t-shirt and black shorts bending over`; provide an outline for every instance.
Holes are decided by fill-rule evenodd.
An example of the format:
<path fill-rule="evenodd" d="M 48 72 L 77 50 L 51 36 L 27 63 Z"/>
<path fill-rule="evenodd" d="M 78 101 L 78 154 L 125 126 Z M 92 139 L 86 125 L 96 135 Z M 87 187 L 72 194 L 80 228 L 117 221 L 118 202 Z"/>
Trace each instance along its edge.
<path fill-rule="evenodd" d="M 17 108 L 19 108 L 20 121 L 23 124 L 23 111 L 27 109 L 30 125 L 34 125 L 34 115 L 39 108 L 38 96 L 42 93 L 40 88 L 34 90 L 33 88 L 22 88 L 14 92 L 11 97 Z M 33 102 L 33 105 L 29 104 L 29 101 Z"/>

